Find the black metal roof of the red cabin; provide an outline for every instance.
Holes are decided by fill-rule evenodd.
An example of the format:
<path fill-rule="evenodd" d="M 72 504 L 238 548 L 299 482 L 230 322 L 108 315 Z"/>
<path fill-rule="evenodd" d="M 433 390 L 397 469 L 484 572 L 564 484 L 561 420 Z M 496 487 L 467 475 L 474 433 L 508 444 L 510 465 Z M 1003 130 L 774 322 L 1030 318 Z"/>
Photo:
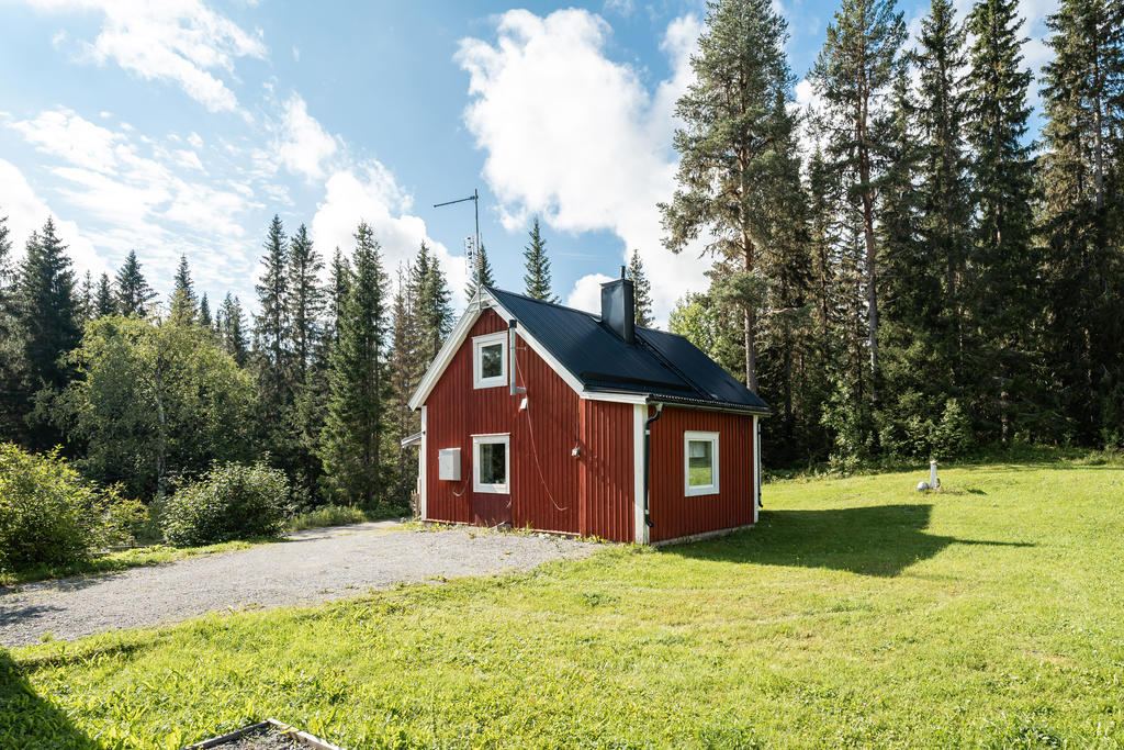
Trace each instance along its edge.
<path fill-rule="evenodd" d="M 768 414 L 769 405 L 687 338 L 636 328 L 627 343 L 600 317 L 492 287 L 484 288 L 587 390 L 652 401 Z"/>

